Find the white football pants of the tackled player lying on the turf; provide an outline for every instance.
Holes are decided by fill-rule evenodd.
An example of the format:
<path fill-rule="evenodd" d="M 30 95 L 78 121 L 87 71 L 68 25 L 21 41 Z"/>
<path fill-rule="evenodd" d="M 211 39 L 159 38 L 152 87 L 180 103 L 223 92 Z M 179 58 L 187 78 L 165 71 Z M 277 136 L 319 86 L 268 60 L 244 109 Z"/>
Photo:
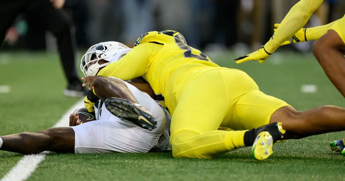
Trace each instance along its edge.
<path fill-rule="evenodd" d="M 148 94 L 124 83 L 139 104 L 156 118 L 157 128 L 149 131 L 120 119 L 99 102 L 95 104 L 97 121 L 73 126 L 76 133 L 76 153 L 146 153 L 152 149 L 161 151 L 169 147 L 170 115 Z"/>

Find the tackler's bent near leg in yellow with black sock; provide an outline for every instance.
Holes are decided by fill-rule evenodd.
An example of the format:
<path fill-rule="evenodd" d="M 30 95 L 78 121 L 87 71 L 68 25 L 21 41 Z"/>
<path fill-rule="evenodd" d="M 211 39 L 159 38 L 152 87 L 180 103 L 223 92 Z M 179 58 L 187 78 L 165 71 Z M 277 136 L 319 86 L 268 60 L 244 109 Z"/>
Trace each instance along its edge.
<path fill-rule="evenodd" d="M 276 124 L 251 131 L 217 130 L 248 87 L 247 80 L 237 81 L 245 74 L 242 71 L 231 70 L 234 72 L 228 77 L 221 71 L 201 74 L 176 95 L 177 106 L 170 126 L 175 158 L 213 158 L 240 147 L 252 146 L 255 135 L 263 130 L 275 129 L 279 134 Z M 230 84 L 232 87 L 229 89 L 227 85 Z"/>

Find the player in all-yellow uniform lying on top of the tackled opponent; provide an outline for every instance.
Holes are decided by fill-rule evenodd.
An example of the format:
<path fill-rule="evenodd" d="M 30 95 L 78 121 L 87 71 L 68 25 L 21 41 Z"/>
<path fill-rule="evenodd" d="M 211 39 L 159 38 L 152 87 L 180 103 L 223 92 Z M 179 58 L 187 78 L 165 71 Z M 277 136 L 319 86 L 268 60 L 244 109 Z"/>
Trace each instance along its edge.
<path fill-rule="evenodd" d="M 264 160 L 283 134 L 284 139 L 299 139 L 345 130 L 345 108 L 321 106 L 296 111 L 261 92 L 245 72 L 211 62 L 176 31 L 140 36 L 127 55 L 97 75 L 122 80 L 142 76 L 155 94 L 164 96 L 172 114 L 170 143 L 175 158 L 213 158 L 253 145 L 253 157 Z M 92 88 L 94 78 L 83 78 L 84 85 L 90 82 Z M 105 104 L 118 115 L 119 107 L 128 102 L 108 98 Z M 235 131 L 218 130 L 220 126 Z"/>

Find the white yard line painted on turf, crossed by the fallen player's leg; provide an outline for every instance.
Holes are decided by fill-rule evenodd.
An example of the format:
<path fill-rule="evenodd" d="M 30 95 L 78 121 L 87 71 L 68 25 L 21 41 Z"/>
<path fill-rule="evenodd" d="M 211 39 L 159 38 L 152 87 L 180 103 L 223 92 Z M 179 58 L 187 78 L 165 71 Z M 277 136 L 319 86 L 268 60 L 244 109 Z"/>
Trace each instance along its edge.
<path fill-rule="evenodd" d="M 69 125 L 69 114 L 78 108 L 84 107 L 83 99 L 73 105 L 53 127 Z M 27 180 L 35 171 L 38 164 L 45 159 L 46 152 L 35 155 L 25 155 L 0 181 L 23 181 Z"/>

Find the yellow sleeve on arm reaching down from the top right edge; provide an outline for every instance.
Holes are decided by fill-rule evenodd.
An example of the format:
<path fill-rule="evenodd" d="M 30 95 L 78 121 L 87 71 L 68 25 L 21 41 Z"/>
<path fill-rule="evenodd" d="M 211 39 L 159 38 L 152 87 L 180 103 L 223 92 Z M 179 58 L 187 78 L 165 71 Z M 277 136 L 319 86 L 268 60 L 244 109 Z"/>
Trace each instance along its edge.
<path fill-rule="evenodd" d="M 273 37 L 265 44 L 265 50 L 273 53 L 287 39 L 304 27 L 313 12 L 324 0 L 300 0 L 287 13 Z"/>

